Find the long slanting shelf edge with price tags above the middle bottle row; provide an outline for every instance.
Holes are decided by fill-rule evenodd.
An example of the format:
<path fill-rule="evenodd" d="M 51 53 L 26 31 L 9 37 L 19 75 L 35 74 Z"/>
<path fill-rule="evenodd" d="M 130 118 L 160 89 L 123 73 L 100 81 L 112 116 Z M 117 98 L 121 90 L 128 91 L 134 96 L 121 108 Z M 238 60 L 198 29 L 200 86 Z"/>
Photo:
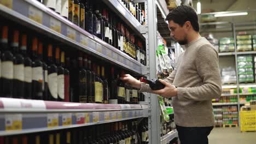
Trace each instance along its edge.
<path fill-rule="evenodd" d="M 109 1 L 119 3 L 117 0 Z M 12 5 L 8 7 L 0 4 L 0 14 L 7 19 L 17 21 L 79 50 L 93 53 L 97 57 L 142 74 L 143 65 L 141 63 L 69 22 L 53 10 L 46 8 L 42 3 L 33 0 L 13 0 Z M 126 18 L 133 21 L 133 19 L 128 19 L 129 17 Z"/>

